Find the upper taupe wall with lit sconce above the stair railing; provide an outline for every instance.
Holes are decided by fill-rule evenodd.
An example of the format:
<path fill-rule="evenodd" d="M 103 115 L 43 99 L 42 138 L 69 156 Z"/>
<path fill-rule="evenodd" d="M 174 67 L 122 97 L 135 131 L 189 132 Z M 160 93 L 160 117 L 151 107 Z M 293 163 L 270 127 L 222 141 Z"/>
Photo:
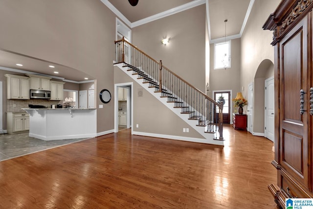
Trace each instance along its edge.
<path fill-rule="evenodd" d="M 205 5 L 134 27 L 133 44 L 205 93 Z M 163 38 L 169 38 L 166 46 Z"/>

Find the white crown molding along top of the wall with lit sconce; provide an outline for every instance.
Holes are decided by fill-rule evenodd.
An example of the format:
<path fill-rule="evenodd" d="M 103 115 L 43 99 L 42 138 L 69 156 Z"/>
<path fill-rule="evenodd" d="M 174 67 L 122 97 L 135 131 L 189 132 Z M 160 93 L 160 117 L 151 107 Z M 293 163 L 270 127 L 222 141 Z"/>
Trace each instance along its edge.
<path fill-rule="evenodd" d="M 174 15 L 176 13 L 179 13 L 179 12 L 182 12 L 182 11 L 185 11 L 187 9 L 191 9 L 193 7 L 196 7 L 196 6 L 199 6 L 199 5 L 202 5 L 206 2 L 206 0 L 194 0 L 194 1 L 191 1 L 189 3 L 185 3 L 183 5 L 180 5 L 178 7 L 175 7 L 173 9 L 169 9 L 167 11 L 164 11 L 164 12 L 160 12 L 156 15 L 153 15 L 153 16 L 150 16 L 150 17 L 147 17 L 147 18 L 144 18 L 142 20 L 139 20 L 139 21 L 136 21 L 136 22 L 133 22 L 131 27 L 136 27 L 136 26 L 139 26 L 139 25 L 142 25 L 142 24 L 146 24 L 146 23 L 150 23 L 152 21 L 156 21 L 158 19 L 161 19 L 161 18 L 165 18 L 167 16 L 170 16 L 170 15 Z"/>

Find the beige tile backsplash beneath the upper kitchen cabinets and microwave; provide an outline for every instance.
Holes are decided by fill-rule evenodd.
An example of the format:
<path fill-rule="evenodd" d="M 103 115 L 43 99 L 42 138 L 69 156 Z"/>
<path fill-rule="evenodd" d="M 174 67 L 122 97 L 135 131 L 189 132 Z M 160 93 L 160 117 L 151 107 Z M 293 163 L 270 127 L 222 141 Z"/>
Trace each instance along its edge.
<path fill-rule="evenodd" d="M 32 105 L 44 105 L 48 108 L 51 107 L 51 105 L 57 105 L 62 104 L 62 101 L 50 101 L 47 99 L 7 99 L 6 104 L 7 112 L 19 112 L 22 111 L 22 108 L 28 108 L 29 104 Z"/>

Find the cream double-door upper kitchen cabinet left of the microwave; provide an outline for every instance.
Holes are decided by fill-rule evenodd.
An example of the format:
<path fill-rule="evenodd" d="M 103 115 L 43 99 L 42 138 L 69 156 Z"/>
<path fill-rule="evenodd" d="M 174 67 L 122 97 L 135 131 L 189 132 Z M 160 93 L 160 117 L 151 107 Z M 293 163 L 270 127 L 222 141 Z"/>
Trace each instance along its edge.
<path fill-rule="evenodd" d="M 7 78 L 7 99 L 29 99 L 29 79 L 19 75 L 4 75 Z"/>

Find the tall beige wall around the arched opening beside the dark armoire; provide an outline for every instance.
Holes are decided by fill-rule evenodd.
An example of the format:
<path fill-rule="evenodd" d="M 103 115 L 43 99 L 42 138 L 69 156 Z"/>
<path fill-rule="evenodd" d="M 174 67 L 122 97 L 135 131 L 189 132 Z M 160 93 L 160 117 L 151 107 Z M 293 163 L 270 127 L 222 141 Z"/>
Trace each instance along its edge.
<path fill-rule="evenodd" d="M 274 48 L 272 31 L 263 30 L 268 16 L 280 0 L 255 0 L 241 38 L 241 86 L 247 98 L 247 86 L 254 82 L 253 132 L 264 133 L 264 80 L 273 75 Z M 266 62 L 264 62 L 266 61 Z M 264 66 L 264 63 L 269 65 Z M 260 74 L 260 75 L 258 75 Z M 246 110 L 246 109 L 245 109 Z"/>

